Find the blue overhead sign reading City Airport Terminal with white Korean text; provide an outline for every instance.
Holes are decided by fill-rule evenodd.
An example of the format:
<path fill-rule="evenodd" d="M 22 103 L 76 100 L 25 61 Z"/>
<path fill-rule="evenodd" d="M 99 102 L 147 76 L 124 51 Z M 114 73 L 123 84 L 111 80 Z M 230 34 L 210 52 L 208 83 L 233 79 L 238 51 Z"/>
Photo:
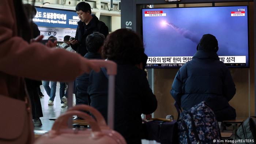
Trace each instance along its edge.
<path fill-rule="evenodd" d="M 36 9 L 37 14 L 33 21 L 38 26 L 76 29 L 80 20 L 75 11 L 38 7 Z"/>

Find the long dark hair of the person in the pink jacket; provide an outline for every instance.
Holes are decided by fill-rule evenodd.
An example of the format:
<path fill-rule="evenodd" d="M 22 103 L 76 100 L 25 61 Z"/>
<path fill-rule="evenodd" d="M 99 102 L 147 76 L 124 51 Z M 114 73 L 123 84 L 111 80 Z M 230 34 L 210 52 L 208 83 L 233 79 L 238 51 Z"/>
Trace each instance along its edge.
<path fill-rule="evenodd" d="M 33 37 L 31 30 L 31 23 L 27 18 L 25 13 L 22 0 L 13 0 L 16 25 L 18 30 L 18 36 L 22 37 L 25 41 L 30 42 L 30 39 Z M 32 0 L 32 5 L 35 4 L 35 0 Z"/>

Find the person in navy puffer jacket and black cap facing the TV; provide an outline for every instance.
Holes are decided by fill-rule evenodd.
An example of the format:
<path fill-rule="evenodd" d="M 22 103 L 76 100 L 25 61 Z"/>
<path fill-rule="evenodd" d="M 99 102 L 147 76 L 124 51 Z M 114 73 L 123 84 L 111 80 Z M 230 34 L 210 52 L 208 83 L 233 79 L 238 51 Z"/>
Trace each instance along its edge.
<path fill-rule="evenodd" d="M 228 102 L 236 88 L 217 51 L 217 39 L 211 34 L 203 35 L 193 59 L 177 72 L 170 93 L 184 110 L 206 101 L 218 121 L 231 120 L 236 118 L 236 110 Z"/>

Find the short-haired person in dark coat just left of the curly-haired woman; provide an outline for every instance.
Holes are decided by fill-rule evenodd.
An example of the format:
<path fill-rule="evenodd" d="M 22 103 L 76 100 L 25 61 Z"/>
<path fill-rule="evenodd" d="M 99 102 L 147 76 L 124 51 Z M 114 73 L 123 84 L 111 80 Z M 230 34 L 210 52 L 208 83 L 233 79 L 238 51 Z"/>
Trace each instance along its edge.
<path fill-rule="evenodd" d="M 95 32 L 90 34 L 86 38 L 86 48 L 88 53 L 84 55 L 88 59 L 101 59 L 101 48 L 104 43 L 105 36 L 101 33 Z M 84 73 L 83 75 L 76 78 L 76 105 L 84 104 L 88 105 L 88 94 L 87 87 L 89 83 L 89 74 Z"/>

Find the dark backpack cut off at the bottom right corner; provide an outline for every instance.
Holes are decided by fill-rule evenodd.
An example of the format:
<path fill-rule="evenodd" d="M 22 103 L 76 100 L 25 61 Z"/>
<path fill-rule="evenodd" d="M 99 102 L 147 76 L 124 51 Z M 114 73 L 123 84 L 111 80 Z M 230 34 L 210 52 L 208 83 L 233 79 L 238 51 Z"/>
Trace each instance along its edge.
<path fill-rule="evenodd" d="M 236 141 L 238 144 L 256 143 L 256 117 L 247 118 L 236 131 Z M 251 141 L 245 141 L 251 140 Z"/>

